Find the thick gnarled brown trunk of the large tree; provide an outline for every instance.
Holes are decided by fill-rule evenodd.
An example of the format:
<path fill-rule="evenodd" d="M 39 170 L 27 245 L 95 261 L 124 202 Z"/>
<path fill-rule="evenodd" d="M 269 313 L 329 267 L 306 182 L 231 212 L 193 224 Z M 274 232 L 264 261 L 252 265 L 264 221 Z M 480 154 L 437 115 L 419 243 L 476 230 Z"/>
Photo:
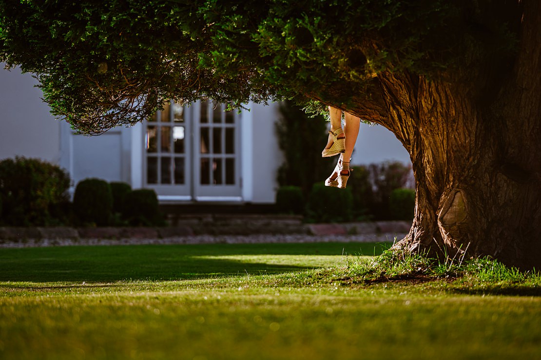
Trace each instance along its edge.
<path fill-rule="evenodd" d="M 514 58 L 473 49 L 470 66 L 439 79 L 380 74 L 379 93 L 347 109 L 410 153 L 415 218 L 396 248 L 541 268 L 541 2 L 523 5 L 508 14 Z"/>

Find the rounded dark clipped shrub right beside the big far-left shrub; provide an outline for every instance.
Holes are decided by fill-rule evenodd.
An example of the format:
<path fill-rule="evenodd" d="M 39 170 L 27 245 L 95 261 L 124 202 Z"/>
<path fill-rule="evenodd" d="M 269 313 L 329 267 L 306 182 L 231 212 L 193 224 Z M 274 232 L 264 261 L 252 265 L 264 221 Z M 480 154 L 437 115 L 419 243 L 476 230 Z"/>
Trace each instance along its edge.
<path fill-rule="evenodd" d="M 73 197 L 77 218 L 84 224 L 109 225 L 113 215 L 113 193 L 102 179 L 84 179 L 77 184 Z"/>

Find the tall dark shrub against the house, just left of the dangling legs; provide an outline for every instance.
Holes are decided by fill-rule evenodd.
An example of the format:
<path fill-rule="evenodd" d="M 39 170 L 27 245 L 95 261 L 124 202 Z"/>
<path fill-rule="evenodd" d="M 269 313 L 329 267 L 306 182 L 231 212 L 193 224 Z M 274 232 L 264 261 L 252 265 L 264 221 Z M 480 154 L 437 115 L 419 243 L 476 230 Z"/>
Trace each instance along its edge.
<path fill-rule="evenodd" d="M 299 186 L 306 197 L 315 182 L 327 178 L 336 161 L 319 156 L 327 144 L 327 121 L 322 116 L 307 117 L 291 101 L 280 105 L 280 114 L 276 135 L 283 163 L 278 169 L 278 184 Z"/>

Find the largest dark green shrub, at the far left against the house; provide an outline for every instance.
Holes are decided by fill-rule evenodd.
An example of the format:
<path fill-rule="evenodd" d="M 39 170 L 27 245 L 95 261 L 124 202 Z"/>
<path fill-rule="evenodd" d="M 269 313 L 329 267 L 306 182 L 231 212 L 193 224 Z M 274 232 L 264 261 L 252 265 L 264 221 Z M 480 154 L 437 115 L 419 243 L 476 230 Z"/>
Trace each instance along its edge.
<path fill-rule="evenodd" d="M 0 161 L 0 219 L 10 226 L 47 226 L 65 222 L 70 178 L 57 165 L 17 157 Z"/>

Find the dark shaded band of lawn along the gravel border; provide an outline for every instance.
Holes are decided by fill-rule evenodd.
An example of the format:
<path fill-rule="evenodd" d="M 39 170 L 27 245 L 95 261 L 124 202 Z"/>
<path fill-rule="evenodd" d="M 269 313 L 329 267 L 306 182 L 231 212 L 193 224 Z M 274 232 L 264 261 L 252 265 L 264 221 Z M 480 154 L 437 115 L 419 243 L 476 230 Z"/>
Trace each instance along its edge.
<path fill-rule="evenodd" d="M 292 264 L 244 261 L 239 255 L 379 254 L 366 243 L 272 243 L 139 246 L 77 246 L 0 249 L 0 281 L 113 282 L 188 280 L 237 274 L 278 274 L 312 269 Z M 239 256 L 238 260 L 235 256 Z M 228 257 L 224 259 L 224 257 Z"/>

